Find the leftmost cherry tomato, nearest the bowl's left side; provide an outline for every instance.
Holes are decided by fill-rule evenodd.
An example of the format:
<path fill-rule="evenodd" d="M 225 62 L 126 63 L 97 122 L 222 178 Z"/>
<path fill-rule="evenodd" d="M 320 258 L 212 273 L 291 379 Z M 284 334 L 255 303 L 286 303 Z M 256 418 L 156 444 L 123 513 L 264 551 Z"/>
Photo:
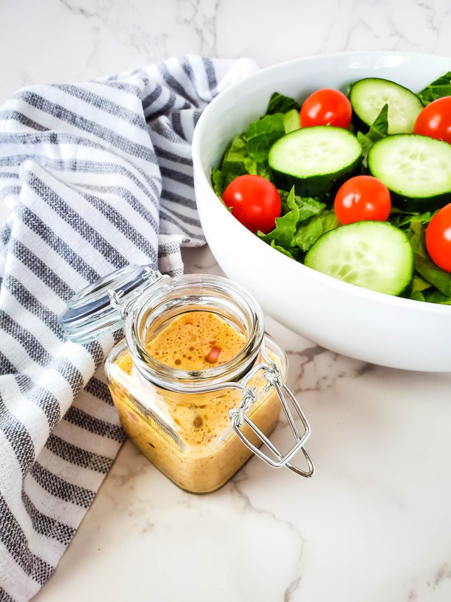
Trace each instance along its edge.
<path fill-rule="evenodd" d="M 232 215 L 254 234 L 257 230 L 271 232 L 275 218 L 280 216 L 280 194 L 262 176 L 239 176 L 225 188 L 222 200 L 232 208 Z"/>

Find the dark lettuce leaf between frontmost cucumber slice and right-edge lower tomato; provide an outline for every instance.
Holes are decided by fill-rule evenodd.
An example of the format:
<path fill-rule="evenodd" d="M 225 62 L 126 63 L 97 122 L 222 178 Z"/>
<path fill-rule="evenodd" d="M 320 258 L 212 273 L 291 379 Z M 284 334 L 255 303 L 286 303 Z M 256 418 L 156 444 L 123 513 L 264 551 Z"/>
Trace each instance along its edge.
<path fill-rule="evenodd" d="M 414 253 L 414 268 L 428 282 L 437 288 L 444 297 L 451 297 L 451 274 L 445 272 L 429 257 L 426 249 L 426 228 L 419 220 L 411 220 L 408 237 Z M 426 299 L 425 297 L 425 300 Z M 432 300 L 437 303 L 437 301 Z M 438 302 L 441 303 L 442 301 Z"/>

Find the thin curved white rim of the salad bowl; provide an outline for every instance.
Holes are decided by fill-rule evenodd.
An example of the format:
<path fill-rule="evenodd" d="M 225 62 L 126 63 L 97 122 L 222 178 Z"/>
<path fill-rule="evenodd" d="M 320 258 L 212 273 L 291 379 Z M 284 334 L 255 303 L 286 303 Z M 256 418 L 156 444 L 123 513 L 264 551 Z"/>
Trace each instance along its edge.
<path fill-rule="evenodd" d="M 192 164 L 194 174 L 198 179 L 199 184 L 203 188 L 207 194 L 210 195 L 211 198 L 215 199 L 216 202 L 219 203 L 219 199 L 216 196 L 215 191 L 213 191 L 213 187 L 210 183 L 210 178 L 204 172 L 201 161 L 200 154 L 200 141 L 203 135 L 203 132 L 206 128 L 209 128 L 209 120 L 210 115 L 215 114 L 216 105 L 218 105 L 223 98 L 227 96 L 232 96 L 235 93 L 235 90 L 238 89 L 244 82 L 248 85 L 249 82 L 253 80 L 259 81 L 260 78 L 264 78 L 266 75 L 271 74 L 272 72 L 277 72 L 281 67 L 287 66 L 295 66 L 299 63 L 315 63 L 318 61 L 327 60 L 330 58 L 338 58 L 338 57 L 393 57 L 398 56 L 401 58 L 422 58 L 423 60 L 443 60 L 449 61 L 451 67 L 451 58 L 444 57 L 439 55 L 425 54 L 420 52 L 402 52 L 402 51 L 346 51 L 346 52 L 330 52 L 328 54 L 318 54 L 311 57 L 300 57 L 293 58 L 289 61 L 283 61 L 282 63 L 276 63 L 274 65 L 269 65 L 268 67 L 263 67 L 263 69 L 259 69 L 258 71 L 251 73 L 244 79 L 236 82 L 235 84 L 227 87 L 223 92 L 220 92 L 213 100 L 207 105 L 207 107 L 203 110 L 200 118 L 198 119 L 197 125 L 194 129 L 194 135 L 192 138 Z M 398 67 L 392 67 L 394 70 L 398 69 Z M 221 204 L 221 203 L 219 203 Z M 225 217 L 227 216 L 227 217 Z M 245 228 L 232 214 L 225 209 L 224 206 L 224 219 L 225 220 L 233 220 L 235 225 L 242 229 L 242 232 L 245 237 L 248 238 L 249 241 L 256 241 L 258 245 L 260 245 L 260 249 L 263 249 L 263 246 L 269 247 L 268 244 L 260 240 L 260 238 L 256 237 L 256 235 L 252 234 L 247 228 Z M 232 223 L 232 222 L 230 222 Z M 271 248 L 271 247 L 270 247 Z M 298 261 L 295 261 L 283 253 L 278 252 L 276 249 L 271 249 L 274 253 L 278 253 L 280 259 L 282 261 L 289 261 L 293 266 L 293 270 L 298 270 L 298 272 L 303 276 L 308 276 L 313 280 L 317 280 L 320 284 L 336 288 L 337 290 L 342 290 L 343 293 L 352 293 L 357 297 L 361 297 L 362 299 L 369 300 L 371 302 L 383 303 L 385 305 L 394 305 L 397 306 L 398 309 L 406 308 L 406 309 L 416 309 L 419 312 L 426 312 L 432 314 L 447 314 L 451 315 L 451 308 L 448 308 L 446 305 L 440 305 L 439 303 L 427 303 L 423 301 L 417 301 L 415 299 L 406 299 L 405 297 L 394 297 L 385 293 L 379 293 L 378 291 L 372 291 L 368 288 L 357 287 L 354 284 L 349 282 L 344 282 L 342 280 L 338 280 L 336 278 L 332 278 L 331 276 L 327 276 L 326 274 L 322 274 L 321 272 L 317 272 L 316 270 L 312 270 Z M 279 260 L 280 260 L 279 259 Z M 295 267 L 296 266 L 296 267 Z M 306 271 L 307 270 L 307 271 Z M 351 290 L 352 287 L 352 290 Z"/>

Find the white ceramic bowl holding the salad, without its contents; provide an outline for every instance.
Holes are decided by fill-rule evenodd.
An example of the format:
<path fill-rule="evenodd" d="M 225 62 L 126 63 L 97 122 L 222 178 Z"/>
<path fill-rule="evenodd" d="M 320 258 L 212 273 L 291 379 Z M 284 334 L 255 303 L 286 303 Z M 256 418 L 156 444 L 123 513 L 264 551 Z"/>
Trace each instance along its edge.
<path fill-rule="evenodd" d="M 210 185 L 211 169 L 233 136 L 265 113 L 272 92 L 304 99 L 322 87 L 345 92 L 349 83 L 371 76 L 417 92 L 450 67 L 450 58 L 400 52 L 300 58 L 225 90 L 198 121 L 192 143 L 195 196 L 216 261 L 267 314 L 327 349 L 393 368 L 451 371 L 451 306 L 376 293 L 284 256 L 225 209 Z"/>

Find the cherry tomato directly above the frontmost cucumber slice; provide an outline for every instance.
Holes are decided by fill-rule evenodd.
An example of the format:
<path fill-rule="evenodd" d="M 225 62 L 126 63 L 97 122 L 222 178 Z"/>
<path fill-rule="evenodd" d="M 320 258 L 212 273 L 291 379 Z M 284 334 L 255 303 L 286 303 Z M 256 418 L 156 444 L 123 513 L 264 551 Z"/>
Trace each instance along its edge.
<path fill-rule="evenodd" d="M 343 224 L 385 222 L 390 213 L 391 200 L 388 188 L 373 176 L 355 176 L 337 192 L 335 213 Z"/>

